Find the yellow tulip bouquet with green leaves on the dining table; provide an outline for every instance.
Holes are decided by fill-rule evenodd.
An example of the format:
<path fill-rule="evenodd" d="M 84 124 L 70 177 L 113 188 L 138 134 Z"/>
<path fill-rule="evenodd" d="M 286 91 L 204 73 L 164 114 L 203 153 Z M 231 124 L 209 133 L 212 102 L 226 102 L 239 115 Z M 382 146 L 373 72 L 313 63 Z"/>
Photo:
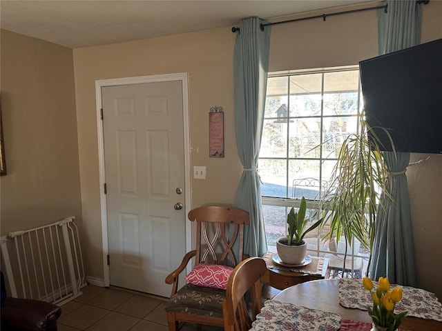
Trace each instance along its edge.
<path fill-rule="evenodd" d="M 364 288 L 372 295 L 373 306 L 367 307 L 368 313 L 373 321 L 373 329 L 377 331 L 394 331 L 407 316 L 407 312 L 394 314 L 396 302 L 402 299 L 402 288 L 396 287 L 390 291 L 390 281 L 387 278 L 379 277 L 378 288 L 373 290 L 373 283 L 368 277 L 362 280 Z"/>

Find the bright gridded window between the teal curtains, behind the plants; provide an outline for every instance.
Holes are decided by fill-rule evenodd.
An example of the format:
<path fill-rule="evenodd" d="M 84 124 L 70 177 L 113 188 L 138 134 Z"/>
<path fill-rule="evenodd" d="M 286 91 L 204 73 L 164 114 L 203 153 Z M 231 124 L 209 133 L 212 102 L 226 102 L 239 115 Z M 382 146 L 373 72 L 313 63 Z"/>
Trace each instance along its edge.
<path fill-rule="evenodd" d="M 343 140 L 358 130 L 361 96 L 358 66 L 269 74 L 258 168 L 270 250 L 288 209 L 301 197 L 313 208 L 327 189 Z M 309 250 L 328 252 L 313 235 Z"/>

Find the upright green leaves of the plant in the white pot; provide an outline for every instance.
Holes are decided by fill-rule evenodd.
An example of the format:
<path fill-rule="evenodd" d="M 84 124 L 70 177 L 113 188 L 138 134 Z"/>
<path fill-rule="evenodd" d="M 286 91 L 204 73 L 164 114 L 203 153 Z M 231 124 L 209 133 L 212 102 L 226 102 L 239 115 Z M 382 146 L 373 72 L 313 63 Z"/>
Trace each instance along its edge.
<path fill-rule="evenodd" d="M 316 221 L 313 225 L 307 228 L 309 219 L 305 218 L 307 212 L 307 201 L 302 197 L 298 212 L 292 207 L 289 214 L 287 214 L 287 245 L 302 245 L 304 243 L 305 234 L 311 230 L 318 228 L 323 219 Z"/>

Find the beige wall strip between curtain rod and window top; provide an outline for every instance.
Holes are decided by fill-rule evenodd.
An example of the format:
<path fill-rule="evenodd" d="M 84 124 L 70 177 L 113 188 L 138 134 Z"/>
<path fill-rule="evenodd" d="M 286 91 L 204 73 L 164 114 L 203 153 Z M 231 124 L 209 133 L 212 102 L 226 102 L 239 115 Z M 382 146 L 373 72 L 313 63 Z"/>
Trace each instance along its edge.
<path fill-rule="evenodd" d="M 271 26 L 269 71 L 350 66 L 374 57 L 376 24 L 370 10 Z"/>

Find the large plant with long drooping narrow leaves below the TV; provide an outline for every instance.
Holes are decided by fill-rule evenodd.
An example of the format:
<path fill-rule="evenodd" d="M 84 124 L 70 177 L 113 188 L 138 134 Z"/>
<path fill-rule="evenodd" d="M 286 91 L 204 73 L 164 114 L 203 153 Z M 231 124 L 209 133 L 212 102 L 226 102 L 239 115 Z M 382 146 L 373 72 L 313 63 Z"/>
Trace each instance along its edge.
<path fill-rule="evenodd" d="M 357 134 L 350 134 L 343 141 L 318 210 L 325 220 L 323 225 L 329 224 L 329 232 L 323 239 L 336 241 L 336 247 L 341 237 L 345 239 L 344 263 L 347 248 L 357 239 L 369 250 L 370 265 L 378 201 L 381 193 L 389 199 L 391 197 L 387 190 L 388 169 L 381 142 L 363 116 L 359 126 Z M 381 130 L 390 138 L 394 150 L 390 134 Z"/>

